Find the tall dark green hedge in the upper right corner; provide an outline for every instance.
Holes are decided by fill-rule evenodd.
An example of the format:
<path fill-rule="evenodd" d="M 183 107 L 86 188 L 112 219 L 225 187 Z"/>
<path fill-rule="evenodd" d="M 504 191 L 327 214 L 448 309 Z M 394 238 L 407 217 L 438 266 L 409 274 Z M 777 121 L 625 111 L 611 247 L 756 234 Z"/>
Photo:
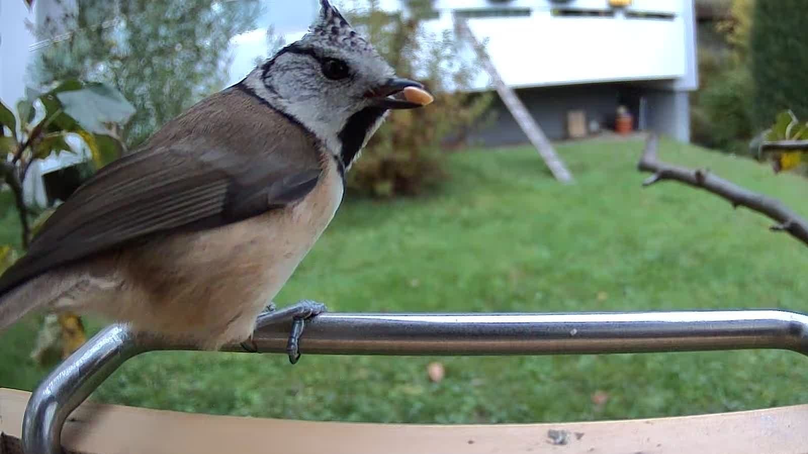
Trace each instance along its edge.
<path fill-rule="evenodd" d="M 758 130 L 768 127 L 782 110 L 808 117 L 806 23 L 805 0 L 755 2 L 750 57 Z"/>

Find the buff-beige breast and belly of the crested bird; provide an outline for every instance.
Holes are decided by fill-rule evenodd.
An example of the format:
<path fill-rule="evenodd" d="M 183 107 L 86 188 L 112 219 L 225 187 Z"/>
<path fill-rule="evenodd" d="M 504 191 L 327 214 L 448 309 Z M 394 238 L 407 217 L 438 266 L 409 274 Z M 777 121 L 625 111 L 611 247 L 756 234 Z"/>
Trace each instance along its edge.
<path fill-rule="evenodd" d="M 314 190 L 295 204 L 124 252 L 121 266 L 131 290 L 126 302 L 107 306 L 109 315 L 211 345 L 248 335 L 342 202 L 342 177 L 330 163 Z"/>

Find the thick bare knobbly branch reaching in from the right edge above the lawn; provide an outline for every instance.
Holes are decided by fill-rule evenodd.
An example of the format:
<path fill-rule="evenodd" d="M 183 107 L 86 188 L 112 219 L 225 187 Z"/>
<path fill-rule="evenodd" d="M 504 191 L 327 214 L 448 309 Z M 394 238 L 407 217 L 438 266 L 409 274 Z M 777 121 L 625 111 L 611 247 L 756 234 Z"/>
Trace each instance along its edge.
<path fill-rule="evenodd" d="M 642 152 L 642 158 L 638 163 L 638 169 L 654 173 L 654 175 L 644 181 L 643 186 L 650 186 L 664 180 L 675 180 L 695 188 L 701 188 L 726 199 L 734 207 L 746 206 L 750 210 L 774 219 L 777 224 L 771 228 L 772 231 L 786 231 L 808 246 L 808 221 L 783 205 L 782 202 L 764 194 L 747 190 L 731 181 L 726 181 L 713 175 L 709 170 L 688 169 L 660 162 L 657 160 L 658 146 L 659 137 L 651 133 L 646 141 L 646 149 Z"/>

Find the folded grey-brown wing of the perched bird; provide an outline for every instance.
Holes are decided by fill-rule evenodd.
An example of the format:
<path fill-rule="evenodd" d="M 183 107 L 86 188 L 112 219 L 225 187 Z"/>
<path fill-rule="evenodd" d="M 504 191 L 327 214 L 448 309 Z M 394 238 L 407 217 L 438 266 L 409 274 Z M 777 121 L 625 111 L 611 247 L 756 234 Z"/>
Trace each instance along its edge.
<path fill-rule="evenodd" d="M 218 227 L 286 206 L 309 194 L 321 173 L 313 150 L 250 158 L 189 148 L 151 148 L 100 169 L 58 207 L 27 254 L 3 273 L 0 294 L 133 239 Z"/>

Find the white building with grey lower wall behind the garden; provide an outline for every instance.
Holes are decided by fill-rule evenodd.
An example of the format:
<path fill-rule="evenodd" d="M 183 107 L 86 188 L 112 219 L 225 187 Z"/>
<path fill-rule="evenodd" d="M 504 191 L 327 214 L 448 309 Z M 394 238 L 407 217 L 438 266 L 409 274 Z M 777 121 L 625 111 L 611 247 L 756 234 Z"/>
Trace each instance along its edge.
<path fill-rule="evenodd" d="M 121 0 L 125 1 L 125 0 Z M 238 0 L 236 0 L 238 1 Z M 230 81 L 266 55 L 264 28 L 272 25 L 287 42 L 297 39 L 318 12 L 318 0 L 261 0 L 267 13 L 259 29 L 234 38 Z M 604 127 L 617 106 L 626 106 L 635 127 L 652 127 L 675 139 L 690 138 L 688 92 L 696 90 L 696 20 L 693 0 L 633 0 L 625 7 L 611 0 L 435 0 L 430 31 L 452 30 L 453 15 L 468 20 L 503 80 L 517 89 L 528 110 L 551 139 L 566 136 L 566 113 L 583 110 L 587 122 Z M 0 98 L 13 105 L 24 93 L 25 64 L 36 48 L 23 19 L 36 22 L 44 12 L 71 0 L 36 0 L 29 13 L 23 0 L 0 5 Z M 385 10 L 406 10 L 406 0 L 381 0 Z M 336 0 L 353 7 L 356 0 Z M 471 59 L 470 48 L 464 59 Z M 479 73 L 474 90 L 491 90 Z M 502 103 L 498 120 L 475 134 L 486 144 L 527 142 Z"/>

